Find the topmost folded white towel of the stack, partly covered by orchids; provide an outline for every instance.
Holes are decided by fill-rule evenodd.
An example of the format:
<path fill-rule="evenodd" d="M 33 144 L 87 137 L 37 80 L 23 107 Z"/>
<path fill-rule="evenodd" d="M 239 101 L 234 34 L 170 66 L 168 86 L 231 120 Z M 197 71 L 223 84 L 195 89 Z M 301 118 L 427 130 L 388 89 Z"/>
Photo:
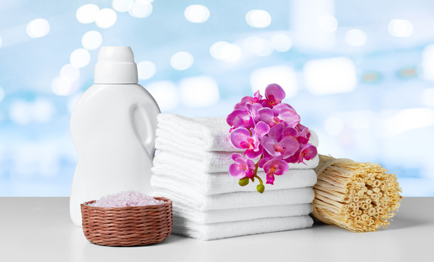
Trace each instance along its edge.
<path fill-rule="evenodd" d="M 240 152 L 228 140 L 229 125 L 226 117 L 188 118 L 177 114 L 158 114 L 155 148 L 203 159 L 203 152 Z M 309 143 L 318 147 L 318 135 L 313 130 Z"/>

